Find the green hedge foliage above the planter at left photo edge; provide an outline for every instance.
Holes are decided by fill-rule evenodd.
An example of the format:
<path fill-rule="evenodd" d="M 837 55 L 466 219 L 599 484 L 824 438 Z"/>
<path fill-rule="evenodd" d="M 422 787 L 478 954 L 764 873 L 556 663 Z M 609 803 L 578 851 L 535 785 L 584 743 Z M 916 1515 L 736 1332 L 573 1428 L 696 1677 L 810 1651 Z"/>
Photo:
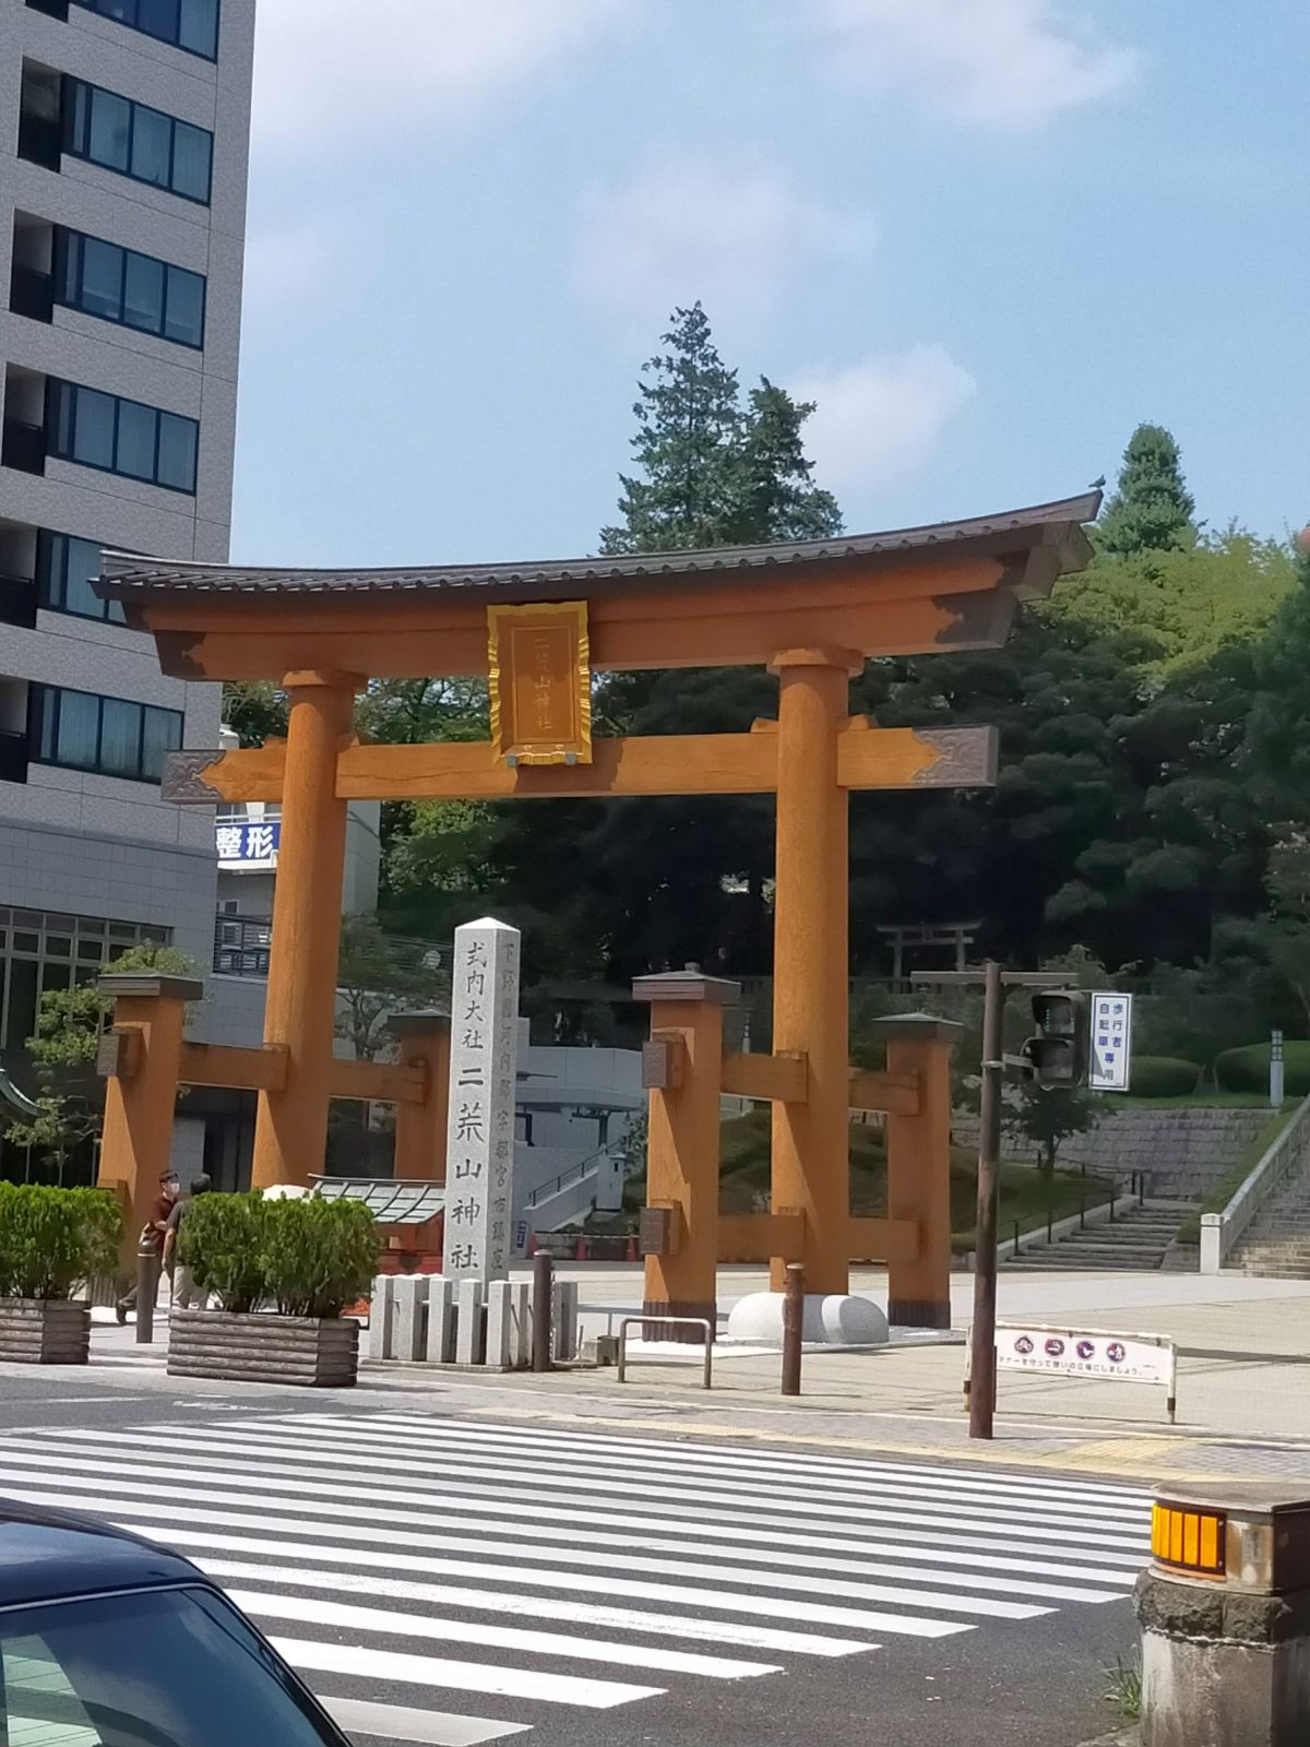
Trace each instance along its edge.
<path fill-rule="evenodd" d="M 121 1232 L 108 1190 L 0 1183 L 0 1298 L 70 1298 L 117 1270 Z"/>

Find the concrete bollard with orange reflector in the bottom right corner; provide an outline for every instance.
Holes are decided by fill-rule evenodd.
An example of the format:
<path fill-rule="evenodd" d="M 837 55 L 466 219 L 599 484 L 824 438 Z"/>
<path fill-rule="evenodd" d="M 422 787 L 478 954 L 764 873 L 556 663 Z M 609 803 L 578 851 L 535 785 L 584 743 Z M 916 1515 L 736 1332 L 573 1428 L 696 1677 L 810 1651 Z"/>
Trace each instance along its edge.
<path fill-rule="evenodd" d="M 1158 1488 L 1137 1581 L 1142 1747 L 1310 1742 L 1310 1499 Z"/>

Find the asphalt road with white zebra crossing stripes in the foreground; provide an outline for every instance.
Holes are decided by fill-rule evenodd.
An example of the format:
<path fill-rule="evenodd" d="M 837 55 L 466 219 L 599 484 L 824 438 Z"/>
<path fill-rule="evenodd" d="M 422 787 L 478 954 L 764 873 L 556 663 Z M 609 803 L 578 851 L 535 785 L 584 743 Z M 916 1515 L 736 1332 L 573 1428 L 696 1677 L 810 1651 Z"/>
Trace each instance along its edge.
<path fill-rule="evenodd" d="M 1078 1747 L 1116 1721 L 1132 1487 L 17 1370 L 0 1497 L 178 1546 L 367 1747 Z"/>

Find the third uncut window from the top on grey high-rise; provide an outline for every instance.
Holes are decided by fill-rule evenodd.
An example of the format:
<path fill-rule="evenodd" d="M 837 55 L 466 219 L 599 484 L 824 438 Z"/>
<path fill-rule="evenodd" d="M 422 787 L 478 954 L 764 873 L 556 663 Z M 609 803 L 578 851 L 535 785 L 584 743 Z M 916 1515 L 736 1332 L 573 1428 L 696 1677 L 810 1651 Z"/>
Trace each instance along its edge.
<path fill-rule="evenodd" d="M 47 452 L 59 461 L 141 479 L 164 491 L 196 493 L 199 425 L 77 383 L 47 383 Z"/>

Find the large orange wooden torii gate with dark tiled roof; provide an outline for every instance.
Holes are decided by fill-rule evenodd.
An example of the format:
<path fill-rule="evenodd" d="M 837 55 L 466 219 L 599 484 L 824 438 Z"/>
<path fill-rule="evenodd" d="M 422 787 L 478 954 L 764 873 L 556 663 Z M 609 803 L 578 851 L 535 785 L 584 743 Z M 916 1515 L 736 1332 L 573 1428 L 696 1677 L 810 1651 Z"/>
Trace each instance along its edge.
<path fill-rule="evenodd" d="M 250 570 L 108 554 L 100 590 L 154 634 L 164 673 L 272 680 L 290 699 L 285 742 L 176 753 L 164 777 L 171 800 L 283 809 L 264 1050 L 206 1053 L 206 1071 L 225 1076 L 208 1083 L 259 1092 L 253 1183 L 320 1174 L 328 1101 L 349 1095 L 348 1064 L 332 1060 L 349 800 L 776 793 L 774 1053 L 721 1055 L 714 978 L 643 980 L 655 1036 L 674 1045 L 667 1078 L 652 1087 L 650 1198 L 669 1219 L 646 1265 L 646 1300 L 671 1315 L 704 1314 L 725 1254 L 770 1260 L 776 1286 L 798 1260 L 809 1291 L 844 1293 L 858 1254 L 889 1261 L 893 1321 L 947 1321 L 948 1038 L 938 1022 L 901 1025 L 889 1036 L 887 1074 L 852 1081 L 847 797 L 989 784 L 996 735 L 877 728 L 849 716 L 847 683 L 872 655 L 999 648 L 1017 601 L 1045 596 L 1086 563 L 1081 524 L 1097 508 L 1099 496 L 1085 494 L 884 535 L 433 570 Z M 748 734 L 592 741 L 592 673 L 711 666 L 777 674 L 777 720 Z M 353 735 L 355 695 L 370 680 L 470 674 L 491 683 L 489 741 L 383 746 Z M 122 994 L 101 1181 L 143 1205 L 166 1164 L 164 1099 L 185 1078 L 182 1057 L 192 1076 L 204 1064 L 182 1041 L 178 1003 L 189 991 Z M 410 1106 L 407 1134 L 430 1143 L 437 1176 L 438 1055 L 440 1043 L 424 1055 L 410 1039 L 402 1066 L 360 1064 L 356 1076 L 372 1088 L 356 1095 Z M 721 1090 L 769 1099 L 774 1111 L 772 1211 L 723 1228 Z M 882 1221 L 851 1219 L 852 1106 L 891 1113 Z"/>

